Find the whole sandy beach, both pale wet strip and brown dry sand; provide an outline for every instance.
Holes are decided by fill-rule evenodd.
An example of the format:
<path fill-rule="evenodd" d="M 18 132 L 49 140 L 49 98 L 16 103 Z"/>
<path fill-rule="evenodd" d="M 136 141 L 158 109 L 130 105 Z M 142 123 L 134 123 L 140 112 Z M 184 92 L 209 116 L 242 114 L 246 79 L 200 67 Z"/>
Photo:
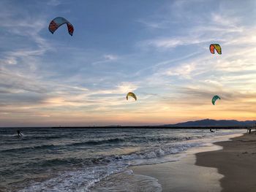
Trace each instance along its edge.
<path fill-rule="evenodd" d="M 256 191 L 255 158 L 256 135 L 252 132 L 188 150 L 181 161 L 132 170 L 156 178 L 162 191 Z"/>

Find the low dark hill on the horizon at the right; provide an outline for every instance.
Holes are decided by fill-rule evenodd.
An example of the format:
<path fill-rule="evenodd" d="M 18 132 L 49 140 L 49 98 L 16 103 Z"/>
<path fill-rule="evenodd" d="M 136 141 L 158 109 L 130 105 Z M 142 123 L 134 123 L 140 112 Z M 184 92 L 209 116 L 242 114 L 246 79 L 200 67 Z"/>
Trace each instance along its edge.
<path fill-rule="evenodd" d="M 220 126 L 255 126 L 256 120 L 246 120 L 246 121 L 238 121 L 238 120 L 212 120 L 212 119 L 204 119 L 204 120 L 195 120 L 195 121 L 187 121 L 184 123 L 176 123 L 170 125 L 164 125 L 167 127 L 220 127 Z"/>

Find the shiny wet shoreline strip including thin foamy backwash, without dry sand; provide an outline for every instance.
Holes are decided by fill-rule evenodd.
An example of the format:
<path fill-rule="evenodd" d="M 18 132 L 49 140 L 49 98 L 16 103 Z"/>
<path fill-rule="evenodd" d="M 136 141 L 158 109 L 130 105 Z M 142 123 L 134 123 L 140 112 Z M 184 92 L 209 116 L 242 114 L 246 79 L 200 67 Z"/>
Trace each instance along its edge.
<path fill-rule="evenodd" d="M 129 166 L 126 171 L 111 174 L 96 183 L 91 191 L 221 191 L 219 180 L 223 176 L 217 173 L 217 169 L 195 165 L 195 152 L 220 149 L 217 145 L 195 147 L 178 161 Z"/>

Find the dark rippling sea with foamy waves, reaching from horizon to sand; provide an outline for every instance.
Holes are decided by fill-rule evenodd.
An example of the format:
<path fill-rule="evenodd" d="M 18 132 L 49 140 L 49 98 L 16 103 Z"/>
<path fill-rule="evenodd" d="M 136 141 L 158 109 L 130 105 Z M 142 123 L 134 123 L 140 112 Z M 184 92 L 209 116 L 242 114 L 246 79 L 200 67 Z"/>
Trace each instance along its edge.
<path fill-rule="evenodd" d="M 23 137 L 17 136 L 20 130 Z M 0 191 L 161 191 L 131 166 L 179 161 L 244 133 L 194 128 L 0 128 Z"/>

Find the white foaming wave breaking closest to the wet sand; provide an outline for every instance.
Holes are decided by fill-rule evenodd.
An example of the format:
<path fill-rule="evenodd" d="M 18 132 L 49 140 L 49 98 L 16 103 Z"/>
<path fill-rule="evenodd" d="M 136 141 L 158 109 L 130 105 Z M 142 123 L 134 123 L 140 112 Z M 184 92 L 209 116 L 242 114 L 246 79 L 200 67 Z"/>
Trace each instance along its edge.
<path fill-rule="evenodd" d="M 56 188 L 57 191 L 91 191 L 91 188 L 99 181 L 105 179 L 111 174 L 123 172 L 128 166 L 143 164 L 141 160 L 146 160 L 144 163 L 148 163 L 148 159 L 154 158 L 157 163 L 157 158 L 165 156 L 167 154 L 176 154 L 181 151 L 187 150 L 188 147 L 194 147 L 199 145 L 193 144 L 179 144 L 172 146 L 154 147 L 151 150 L 141 150 L 136 153 L 124 154 L 124 155 L 107 155 L 98 158 L 87 159 L 75 159 L 69 158 L 61 160 L 54 159 L 50 161 L 42 162 L 37 166 L 44 166 L 49 164 L 63 164 L 69 166 L 69 164 L 83 163 L 77 171 L 65 172 L 58 177 L 53 177 L 42 183 L 34 183 L 22 191 L 50 191 L 51 188 Z M 138 163 L 139 162 L 139 163 Z M 86 166 L 85 166 L 86 164 Z"/>

